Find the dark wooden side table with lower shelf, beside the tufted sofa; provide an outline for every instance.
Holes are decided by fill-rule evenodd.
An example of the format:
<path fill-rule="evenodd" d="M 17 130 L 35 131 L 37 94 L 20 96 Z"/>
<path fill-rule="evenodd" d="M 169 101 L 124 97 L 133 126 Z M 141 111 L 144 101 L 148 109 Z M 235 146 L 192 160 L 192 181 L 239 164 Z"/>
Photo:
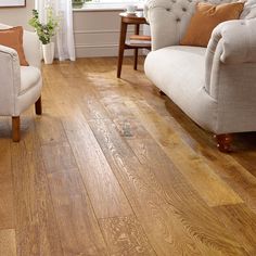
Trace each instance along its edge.
<path fill-rule="evenodd" d="M 117 77 L 120 78 L 121 64 L 124 59 L 124 52 L 126 49 L 135 49 L 135 61 L 133 68 L 137 69 L 138 64 L 138 50 L 148 49 L 151 50 L 151 43 L 149 44 L 131 44 L 126 41 L 126 34 L 128 25 L 135 25 L 135 35 L 139 35 L 140 25 L 148 24 L 145 17 L 143 17 L 142 12 L 136 12 L 135 14 L 127 14 L 123 12 L 120 16 L 120 38 L 119 38 L 119 53 L 118 53 L 118 64 L 117 64 Z"/>

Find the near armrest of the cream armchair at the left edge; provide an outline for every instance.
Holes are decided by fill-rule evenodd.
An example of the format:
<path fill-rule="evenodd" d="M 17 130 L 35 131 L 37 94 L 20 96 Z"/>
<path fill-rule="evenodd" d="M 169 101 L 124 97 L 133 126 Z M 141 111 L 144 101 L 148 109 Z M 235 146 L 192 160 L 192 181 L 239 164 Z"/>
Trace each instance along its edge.
<path fill-rule="evenodd" d="M 15 98 L 21 87 L 17 52 L 0 44 L 0 115 L 14 115 Z"/>

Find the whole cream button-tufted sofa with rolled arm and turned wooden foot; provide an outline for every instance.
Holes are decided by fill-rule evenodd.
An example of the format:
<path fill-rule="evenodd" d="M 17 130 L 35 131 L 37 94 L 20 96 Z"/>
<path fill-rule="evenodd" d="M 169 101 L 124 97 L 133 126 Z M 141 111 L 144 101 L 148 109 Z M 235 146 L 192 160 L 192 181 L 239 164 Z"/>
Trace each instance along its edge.
<path fill-rule="evenodd" d="M 195 123 L 217 138 L 256 130 L 256 0 L 239 21 L 225 22 L 207 48 L 179 46 L 196 0 L 149 0 L 152 49 L 146 76 Z M 212 0 L 212 3 L 232 2 Z M 229 144 L 220 145 L 228 150 Z"/>

